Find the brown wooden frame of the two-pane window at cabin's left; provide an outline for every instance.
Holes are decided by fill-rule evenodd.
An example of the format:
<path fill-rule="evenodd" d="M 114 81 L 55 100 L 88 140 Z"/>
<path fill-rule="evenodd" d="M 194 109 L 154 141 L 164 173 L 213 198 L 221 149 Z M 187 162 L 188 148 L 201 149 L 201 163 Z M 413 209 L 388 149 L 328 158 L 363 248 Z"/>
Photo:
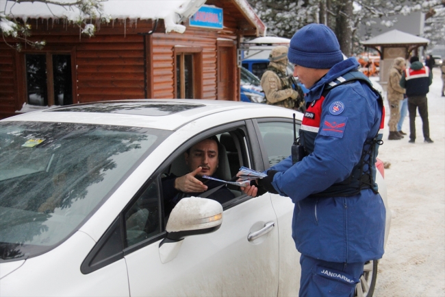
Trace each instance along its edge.
<path fill-rule="evenodd" d="M 76 58 L 75 47 L 45 47 L 43 50 L 28 49 L 21 51 L 18 55 L 17 73 L 18 73 L 18 98 L 21 104 L 28 103 L 27 91 L 27 73 L 26 73 L 26 55 L 45 55 L 47 60 L 47 91 L 48 91 L 48 106 L 55 104 L 54 98 L 54 84 L 53 84 L 53 55 L 71 56 L 71 88 L 73 95 L 73 104 L 79 103 L 77 98 L 77 80 L 76 80 Z M 52 82 L 52 83 L 51 83 Z"/>

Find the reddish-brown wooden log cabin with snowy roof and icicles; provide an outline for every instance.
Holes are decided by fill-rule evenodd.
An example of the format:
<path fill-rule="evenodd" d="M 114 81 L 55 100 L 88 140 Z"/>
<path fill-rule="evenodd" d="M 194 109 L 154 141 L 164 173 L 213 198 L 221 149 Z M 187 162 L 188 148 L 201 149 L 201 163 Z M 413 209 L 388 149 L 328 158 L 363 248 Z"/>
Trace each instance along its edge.
<path fill-rule="evenodd" d="M 176 2 L 164 1 L 164 6 Z M 86 37 L 64 19 L 26 12 L 29 39 L 45 40 L 46 45 L 41 50 L 23 45 L 16 51 L 7 43 L 17 40 L 0 42 L 0 119 L 36 108 L 115 99 L 238 101 L 237 49 L 242 38 L 264 34 L 264 23 L 246 0 L 182 2 L 201 5 L 179 23 L 183 33 L 167 32 L 171 18 L 111 14 L 110 23 L 96 23 L 94 36 Z M 192 25 L 190 20 L 206 7 L 222 12 L 222 28 Z"/>

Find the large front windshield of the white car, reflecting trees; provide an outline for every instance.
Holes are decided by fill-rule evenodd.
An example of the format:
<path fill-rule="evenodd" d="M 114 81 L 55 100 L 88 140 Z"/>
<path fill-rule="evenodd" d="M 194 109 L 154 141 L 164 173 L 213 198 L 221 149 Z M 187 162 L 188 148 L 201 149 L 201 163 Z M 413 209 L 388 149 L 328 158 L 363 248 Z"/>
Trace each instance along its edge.
<path fill-rule="evenodd" d="M 171 132 L 80 123 L 0 123 L 0 258 L 73 234 Z"/>

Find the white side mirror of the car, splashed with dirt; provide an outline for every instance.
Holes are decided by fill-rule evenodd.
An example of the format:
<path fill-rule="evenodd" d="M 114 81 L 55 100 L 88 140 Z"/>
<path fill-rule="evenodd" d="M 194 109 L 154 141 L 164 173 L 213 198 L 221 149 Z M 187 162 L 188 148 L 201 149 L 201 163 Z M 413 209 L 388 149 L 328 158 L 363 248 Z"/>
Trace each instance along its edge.
<path fill-rule="evenodd" d="M 184 237 L 215 232 L 221 224 L 223 206 L 219 202 L 198 197 L 179 200 L 168 218 L 167 236 L 159 245 L 161 262 L 175 259 Z"/>

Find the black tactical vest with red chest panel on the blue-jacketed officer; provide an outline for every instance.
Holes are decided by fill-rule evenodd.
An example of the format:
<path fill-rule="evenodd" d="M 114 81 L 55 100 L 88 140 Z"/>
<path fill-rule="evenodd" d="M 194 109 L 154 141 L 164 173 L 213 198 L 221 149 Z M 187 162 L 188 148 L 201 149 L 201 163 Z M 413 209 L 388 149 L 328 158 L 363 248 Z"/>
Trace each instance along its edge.
<path fill-rule="evenodd" d="M 329 188 L 325 189 L 325 191 L 312 194 L 309 197 L 318 198 L 352 196 L 357 195 L 363 189 L 372 189 L 372 191 L 378 193 L 379 188 L 377 186 L 377 183 L 375 182 L 375 159 L 377 157 L 377 154 L 379 153 L 379 145 L 383 144 L 383 134 L 381 133 L 381 131 L 383 130 L 384 110 L 381 94 L 379 93 L 379 91 L 374 89 L 370 80 L 368 80 L 368 78 L 366 78 L 366 76 L 359 71 L 351 71 L 338 77 L 335 81 L 325 86 L 320 99 L 314 100 L 314 102 L 307 103 L 307 112 L 305 113 L 305 117 L 314 119 L 316 112 L 318 113 L 318 118 L 320 118 L 322 111 L 322 102 L 324 101 L 329 91 L 331 91 L 336 86 L 352 83 L 356 80 L 366 82 L 366 84 L 370 86 L 371 90 L 379 96 L 377 100 L 379 102 L 379 105 L 382 107 L 382 119 L 379 132 L 372 139 L 367 139 L 365 141 L 359 163 L 355 165 L 355 167 L 351 171 L 351 175 L 348 176 L 348 178 L 346 178 L 342 182 L 337 182 L 331 185 Z M 320 121 L 320 119 L 318 119 L 318 121 Z M 302 128 L 299 132 L 299 141 L 301 142 L 301 145 L 305 147 L 305 152 L 308 155 L 314 152 L 314 142 L 316 135 L 318 134 L 318 128 L 303 126 L 304 119 Z"/>

